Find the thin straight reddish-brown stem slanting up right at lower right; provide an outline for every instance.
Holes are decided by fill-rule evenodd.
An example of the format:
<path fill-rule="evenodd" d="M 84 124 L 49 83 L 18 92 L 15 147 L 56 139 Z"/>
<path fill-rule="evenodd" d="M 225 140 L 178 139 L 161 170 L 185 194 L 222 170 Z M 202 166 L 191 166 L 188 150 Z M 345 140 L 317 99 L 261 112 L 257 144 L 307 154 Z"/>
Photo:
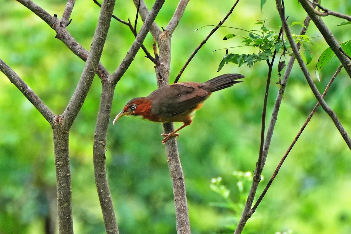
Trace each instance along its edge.
<path fill-rule="evenodd" d="M 325 95 L 327 94 L 331 84 L 333 83 L 333 81 L 335 80 L 336 76 L 339 74 L 339 72 L 341 71 L 341 68 L 343 66 L 341 65 L 340 67 L 338 67 L 337 71 L 335 72 L 335 74 L 333 75 L 333 77 L 331 78 L 331 80 L 329 81 L 327 87 L 325 88 L 324 92 L 323 92 L 323 95 L 322 97 L 324 98 Z M 283 162 L 285 161 L 287 155 L 290 153 L 292 147 L 295 145 L 296 141 L 299 139 L 300 135 L 302 134 L 302 132 L 304 131 L 305 127 L 307 126 L 307 123 L 310 122 L 313 114 L 316 112 L 317 108 L 319 107 L 319 102 L 317 102 L 317 104 L 314 106 L 314 108 L 312 109 L 310 115 L 307 117 L 307 120 L 305 121 L 304 125 L 301 127 L 300 131 L 298 132 L 298 134 L 296 135 L 295 139 L 293 140 L 293 142 L 291 143 L 291 145 L 289 146 L 289 148 L 287 149 L 286 153 L 284 154 L 282 160 L 280 160 L 276 170 L 274 171 L 271 179 L 268 181 L 265 189 L 263 190 L 262 194 L 260 195 L 260 197 L 257 199 L 255 205 L 252 207 L 252 211 L 255 212 L 257 206 L 260 204 L 260 202 L 262 201 L 263 197 L 265 196 L 265 194 L 267 193 L 269 187 L 271 186 L 274 178 L 276 178 L 278 172 L 279 172 L 279 169 L 280 167 L 282 167 L 283 165 Z"/>

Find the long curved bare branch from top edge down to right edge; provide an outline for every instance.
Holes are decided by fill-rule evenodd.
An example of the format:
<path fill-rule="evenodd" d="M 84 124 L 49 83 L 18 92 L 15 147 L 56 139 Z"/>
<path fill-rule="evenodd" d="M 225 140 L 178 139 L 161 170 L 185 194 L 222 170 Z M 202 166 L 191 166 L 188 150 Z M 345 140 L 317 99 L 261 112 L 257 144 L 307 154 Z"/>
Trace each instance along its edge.
<path fill-rule="evenodd" d="M 344 127 L 340 123 L 340 121 L 337 118 L 335 112 L 327 105 L 327 103 L 322 98 L 322 95 L 320 95 L 316 85 L 314 84 L 314 82 L 313 82 L 313 80 L 312 80 L 312 78 L 310 76 L 310 73 L 307 70 L 307 67 L 306 67 L 303 59 L 301 58 L 301 55 L 300 55 L 300 53 L 299 53 L 299 51 L 297 49 L 296 43 L 295 43 L 294 39 L 291 36 L 289 26 L 287 25 L 287 22 L 285 20 L 285 14 L 284 14 L 284 10 L 282 8 L 282 3 L 279 0 L 276 0 L 276 4 L 277 4 L 277 9 L 278 9 L 278 12 L 279 12 L 279 15 L 280 15 L 280 19 L 283 22 L 283 26 L 284 26 L 284 29 L 285 29 L 285 32 L 286 32 L 287 39 L 289 40 L 291 48 L 292 48 L 292 51 L 294 52 L 294 55 L 295 55 L 299 65 L 300 65 L 300 67 L 302 69 L 302 72 L 304 73 L 304 75 L 306 77 L 307 83 L 309 84 L 314 96 L 316 96 L 318 102 L 320 103 L 320 105 L 322 106 L 324 111 L 330 116 L 330 118 L 334 122 L 335 126 L 339 130 L 340 134 L 342 135 L 343 139 L 345 140 L 347 146 L 351 150 L 351 139 L 350 139 L 349 135 L 347 135 L 346 130 L 344 129 Z M 311 14 L 309 14 L 309 15 L 310 15 L 311 19 L 313 20 L 313 16 L 315 16 L 315 15 L 314 14 L 312 14 L 313 16 Z"/>

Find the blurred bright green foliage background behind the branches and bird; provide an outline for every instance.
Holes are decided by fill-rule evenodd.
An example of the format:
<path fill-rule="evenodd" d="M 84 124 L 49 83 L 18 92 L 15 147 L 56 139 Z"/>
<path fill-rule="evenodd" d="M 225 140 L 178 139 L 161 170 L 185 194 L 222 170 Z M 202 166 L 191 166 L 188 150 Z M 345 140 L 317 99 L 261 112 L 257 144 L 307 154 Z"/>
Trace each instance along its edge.
<path fill-rule="evenodd" d="M 49 14 L 61 18 L 66 1 L 35 1 Z M 16 1 L 0 0 L 0 57 L 33 89 L 55 114 L 64 111 L 80 78 L 84 62 L 59 40 L 38 16 Z M 146 1 L 150 7 L 152 1 Z M 322 2 L 325 7 L 351 14 L 349 1 Z M 192 0 L 172 38 L 171 82 L 188 56 L 212 27 L 227 14 L 232 1 Z M 302 22 L 305 13 L 297 1 L 286 1 L 289 24 Z M 165 27 L 176 1 L 166 1 L 157 17 Z M 89 48 L 100 8 L 93 1 L 77 1 L 68 31 Z M 114 14 L 131 21 L 135 7 L 131 1 L 117 1 Z M 262 11 L 259 3 L 240 1 L 226 26 L 257 29 L 256 20 L 269 19 L 267 27 L 280 28 L 273 1 Z M 339 42 L 350 40 L 350 25 L 336 27 L 343 20 L 329 16 L 326 24 Z M 141 23 L 139 22 L 138 28 Z M 203 27 L 203 28 L 200 28 Z M 195 31 L 196 29 L 199 30 Z M 300 26 L 292 26 L 298 33 Z M 240 39 L 223 41 L 231 28 L 219 29 L 186 68 L 180 81 L 204 82 L 217 75 L 225 50 L 240 46 Z M 314 67 L 328 46 L 311 23 L 307 32 L 313 39 L 313 61 L 307 65 L 315 79 Z M 112 20 L 101 62 L 113 73 L 134 40 L 129 29 Z M 149 35 L 144 45 L 152 51 Z M 257 53 L 252 47 L 230 49 L 230 53 Z M 287 58 L 289 59 L 289 58 Z M 277 64 L 277 63 L 276 63 Z M 138 53 L 115 89 L 111 121 L 124 104 L 136 96 L 146 96 L 156 87 L 153 63 Z M 328 64 L 316 79 L 320 92 L 339 66 Z M 191 126 L 181 130 L 178 146 L 184 169 L 190 223 L 193 234 L 231 233 L 241 212 L 213 206 L 227 201 L 210 188 L 211 179 L 221 176 L 233 203 L 242 204 L 242 194 L 234 171 L 252 172 L 256 165 L 264 89 L 265 62 L 249 69 L 234 64 L 220 74 L 242 73 L 245 81 L 215 93 L 197 112 Z M 276 66 L 268 99 L 267 124 L 278 92 Z M 0 74 L 0 234 L 44 233 L 45 223 L 54 218 L 55 169 L 52 131 L 31 103 Z M 105 233 L 96 193 L 92 145 L 101 85 L 95 78 L 70 134 L 73 222 L 76 233 Z M 351 132 L 351 80 L 344 70 L 333 83 L 326 101 L 335 110 L 346 131 Z M 271 177 L 278 162 L 316 103 L 298 65 L 294 65 L 263 171 Z M 181 123 L 176 123 L 179 127 Z M 159 123 L 122 118 L 108 129 L 107 171 L 119 230 L 123 234 L 176 233 L 172 183 Z M 284 162 L 264 200 L 247 223 L 244 233 L 351 233 L 351 157 L 329 116 L 319 109 Z M 250 182 L 245 182 L 247 194 Z M 51 207 L 51 209 L 50 209 Z M 56 227 L 57 228 L 57 227 Z"/>

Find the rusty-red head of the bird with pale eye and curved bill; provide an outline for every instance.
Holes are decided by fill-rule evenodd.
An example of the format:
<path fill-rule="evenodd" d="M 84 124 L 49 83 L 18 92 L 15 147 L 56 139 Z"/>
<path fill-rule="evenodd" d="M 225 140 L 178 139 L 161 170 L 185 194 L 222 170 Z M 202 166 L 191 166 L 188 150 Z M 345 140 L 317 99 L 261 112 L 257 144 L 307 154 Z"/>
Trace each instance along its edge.
<path fill-rule="evenodd" d="M 133 98 L 132 100 L 128 101 L 123 110 L 114 118 L 112 125 L 114 125 L 114 123 L 124 115 L 141 115 L 143 118 L 147 118 L 146 115 L 147 113 L 150 113 L 150 109 L 150 100 L 146 98 Z"/>

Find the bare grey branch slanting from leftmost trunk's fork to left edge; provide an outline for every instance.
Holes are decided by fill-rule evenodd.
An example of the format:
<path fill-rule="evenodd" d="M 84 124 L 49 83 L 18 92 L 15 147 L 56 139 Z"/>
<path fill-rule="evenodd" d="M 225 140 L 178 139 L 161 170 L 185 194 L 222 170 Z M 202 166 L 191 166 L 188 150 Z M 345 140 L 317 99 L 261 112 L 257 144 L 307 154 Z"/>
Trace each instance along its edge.
<path fill-rule="evenodd" d="M 31 88 L 0 58 L 0 71 L 13 83 L 19 91 L 38 109 L 46 121 L 53 125 L 55 114 L 45 105 L 44 102 L 32 91 Z"/>

